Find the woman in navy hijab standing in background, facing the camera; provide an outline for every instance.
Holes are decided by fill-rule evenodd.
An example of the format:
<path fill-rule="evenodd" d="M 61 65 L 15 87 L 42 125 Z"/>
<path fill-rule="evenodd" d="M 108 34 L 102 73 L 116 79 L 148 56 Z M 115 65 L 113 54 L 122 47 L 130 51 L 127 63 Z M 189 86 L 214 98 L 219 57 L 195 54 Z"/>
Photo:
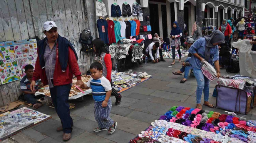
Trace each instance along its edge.
<path fill-rule="evenodd" d="M 181 37 L 182 37 L 182 31 L 181 28 L 179 28 L 177 21 L 174 21 L 172 23 L 172 31 L 171 31 L 171 47 L 172 47 L 172 60 L 173 62 L 171 65 L 175 64 L 175 49 L 179 53 L 179 62 L 181 62 L 181 50 L 179 49 L 181 46 Z"/>

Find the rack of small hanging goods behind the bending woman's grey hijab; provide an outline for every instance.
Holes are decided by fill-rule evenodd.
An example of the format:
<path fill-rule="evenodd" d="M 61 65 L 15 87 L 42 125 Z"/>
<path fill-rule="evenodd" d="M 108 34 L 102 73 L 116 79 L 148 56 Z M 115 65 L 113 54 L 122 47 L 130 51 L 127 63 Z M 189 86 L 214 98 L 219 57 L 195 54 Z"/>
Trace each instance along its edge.
<path fill-rule="evenodd" d="M 202 35 L 210 35 L 212 31 L 217 30 L 217 18 L 202 19 Z"/>

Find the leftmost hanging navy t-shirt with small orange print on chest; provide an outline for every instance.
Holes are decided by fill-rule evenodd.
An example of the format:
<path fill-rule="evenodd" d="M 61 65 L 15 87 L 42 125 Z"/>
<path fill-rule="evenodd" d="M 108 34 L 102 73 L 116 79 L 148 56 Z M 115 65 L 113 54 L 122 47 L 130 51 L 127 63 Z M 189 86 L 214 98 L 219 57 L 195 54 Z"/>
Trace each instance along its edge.
<path fill-rule="evenodd" d="M 100 39 L 104 41 L 104 44 L 109 43 L 108 31 L 107 31 L 107 21 L 104 19 L 97 20 L 97 28 L 99 31 Z"/>

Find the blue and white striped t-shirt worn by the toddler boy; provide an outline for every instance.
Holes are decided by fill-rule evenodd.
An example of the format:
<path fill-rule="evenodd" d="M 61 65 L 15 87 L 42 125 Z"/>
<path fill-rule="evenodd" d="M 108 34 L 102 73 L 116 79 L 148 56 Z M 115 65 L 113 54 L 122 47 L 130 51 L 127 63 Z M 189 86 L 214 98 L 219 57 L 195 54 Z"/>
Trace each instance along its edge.
<path fill-rule="evenodd" d="M 87 87 L 92 88 L 92 97 L 94 101 L 101 102 L 105 100 L 106 92 L 112 89 L 109 80 L 102 76 L 98 80 L 90 78 L 87 82 Z"/>

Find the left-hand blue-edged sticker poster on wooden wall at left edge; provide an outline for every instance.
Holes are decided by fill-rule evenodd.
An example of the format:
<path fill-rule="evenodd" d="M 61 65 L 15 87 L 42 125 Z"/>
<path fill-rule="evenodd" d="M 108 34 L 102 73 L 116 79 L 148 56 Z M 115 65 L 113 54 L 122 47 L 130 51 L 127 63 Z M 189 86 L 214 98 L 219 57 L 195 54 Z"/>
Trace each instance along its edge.
<path fill-rule="evenodd" d="M 20 80 L 13 42 L 0 44 L 0 80 L 2 84 Z"/>

